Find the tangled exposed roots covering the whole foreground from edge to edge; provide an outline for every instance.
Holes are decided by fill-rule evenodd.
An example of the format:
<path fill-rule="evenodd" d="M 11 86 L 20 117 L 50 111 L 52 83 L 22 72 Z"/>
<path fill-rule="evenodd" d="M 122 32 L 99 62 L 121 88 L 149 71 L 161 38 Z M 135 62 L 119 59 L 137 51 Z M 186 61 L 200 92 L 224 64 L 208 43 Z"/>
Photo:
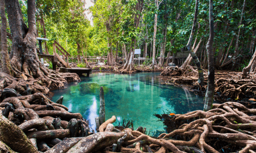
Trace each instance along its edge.
<path fill-rule="evenodd" d="M 5 98 L 0 112 L 10 105 L 14 111 L 9 111 L 8 119 L 0 115 L 0 148 L 10 152 L 256 151 L 256 109 L 236 102 L 166 117 L 174 126 L 158 138 L 143 134 L 143 127 L 115 129 L 115 116 L 100 125 L 99 133 L 90 133 L 81 114 L 68 112 L 41 93 Z"/>

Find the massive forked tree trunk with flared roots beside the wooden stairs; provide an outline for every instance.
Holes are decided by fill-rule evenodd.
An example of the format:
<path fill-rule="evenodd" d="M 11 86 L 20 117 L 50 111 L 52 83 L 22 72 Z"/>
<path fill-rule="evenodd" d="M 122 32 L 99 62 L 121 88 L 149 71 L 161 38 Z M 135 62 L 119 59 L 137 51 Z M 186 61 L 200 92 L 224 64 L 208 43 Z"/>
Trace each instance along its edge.
<path fill-rule="evenodd" d="M 29 78 L 29 80 L 39 79 L 47 88 L 63 88 L 64 83 L 67 83 L 67 78 L 78 81 L 77 74 L 57 73 L 44 67 L 39 61 L 36 52 L 35 0 L 28 0 L 27 3 L 29 28 L 24 23 L 18 0 L 5 0 L 5 3 L 12 34 L 11 66 L 17 73 L 15 77 Z"/>

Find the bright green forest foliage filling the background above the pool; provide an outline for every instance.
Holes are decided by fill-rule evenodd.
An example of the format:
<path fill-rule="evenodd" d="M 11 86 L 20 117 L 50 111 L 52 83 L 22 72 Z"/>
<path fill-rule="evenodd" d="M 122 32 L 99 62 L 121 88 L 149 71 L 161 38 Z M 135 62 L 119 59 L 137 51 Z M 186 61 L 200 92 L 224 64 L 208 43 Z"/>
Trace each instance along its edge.
<path fill-rule="evenodd" d="M 219 55 L 221 49 L 225 50 L 223 48 L 226 48 L 227 50 L 232 37 L 235 38 L 234 41 L 237 39 L 243 1 L 238 1 L 233 5 L 232 2 L 214 1 L 215 57 Z M 254 7 L 253 2 L 252 0 L 247 1 L 243 21 L 240 25 L 242 34 L 239 38 L 239 50 L 243 54 L 249 53 L 252 34 L 256 30 L 256 14 L 252 9 Z M 41 24 L 43 19 L 46 37 L 49 39 L 47 41 L 49 53 L 53 54 L 52 44 L 56 40 L 72 56 L 82 55 L 81 52 L 84 56 L 107 56 L 110 51 L 117 52 L 120 56 L 124 44 L 126 45 L 126 51 L 130 52 L 132 39 L 136 39 L 135 46 L 142 50 L 144 50 L 145 43 L 148 44 L 148 56 L 153 40 L 155 13 L 158 14 L 156 50 L 160 50 L 161 45 L 165 42 L 163 32 L 166 28 L 164 56 L 166 57 L 168 52 L 175 54 L 186 46 L 195 10 L 195 0 L 164 0 L 159 8 L 156 7 L 155 0 L 144 1 L 141 13 L 136 10 L 138 0 L 122 0 L 121 2 L 117 0 L 97 0 L 94 6 L 89 9 L 85 9 L 86 3 L 82 0 L 37 0 L 36 3 L 38 37 L 45 37 Z M 27 24 L 27 0 L 19 0 L 19 4 L 24 21 Z M 194 40 L 196 37 L 198 40 L 202 37 L 205 44 L 209 37 L 208 8 L 208 1 L 200 1 L 198 12 L 200 28 L 198 29 L 197 25 L 195 34 L 198 33 L 198 35 L 194 36 Z M 86 18 L 85 13 L 87 11 L 93 14 L 93 26 Z M 137 29 L 134 25 L 135 16 L 140 16 Z M 9 27 L 7 31 L 11 33 Z M 8 46 L 11 46 L 11 44 L 12 42 L 8 39 Z M 233 53 L 234 44 L 233 42 L 229 54 Z M 78 50 L 80 53 L 77 52 Z M 160 52 L 158 55 L 160 55 Z M 148 60 L 143 64 L 148 65 L 150 62 Z M 238 67 L 238 70 L 242 70 L 247 64 L 248 61 L 245 61 L 244 64 Z"/>

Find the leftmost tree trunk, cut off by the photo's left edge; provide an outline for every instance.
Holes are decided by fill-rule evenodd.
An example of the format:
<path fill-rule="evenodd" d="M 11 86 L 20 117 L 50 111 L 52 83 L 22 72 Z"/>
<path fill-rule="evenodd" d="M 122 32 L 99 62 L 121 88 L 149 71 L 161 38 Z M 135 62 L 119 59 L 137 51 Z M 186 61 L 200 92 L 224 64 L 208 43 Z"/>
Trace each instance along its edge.
<path fill-rule="evenodd" d="M 13 76 L 13 69 L 10 63 L 10 57 L 8 54 L 8 46 L 7 46 L 7 18 L 5 16 L 5 0 L 0 1 L 0 13 L 1 13 L 1 20 L 2 20 L 2 27 L 1 27 L 1 67 L 2 72 L 5 72 L 9 75 Z"/>

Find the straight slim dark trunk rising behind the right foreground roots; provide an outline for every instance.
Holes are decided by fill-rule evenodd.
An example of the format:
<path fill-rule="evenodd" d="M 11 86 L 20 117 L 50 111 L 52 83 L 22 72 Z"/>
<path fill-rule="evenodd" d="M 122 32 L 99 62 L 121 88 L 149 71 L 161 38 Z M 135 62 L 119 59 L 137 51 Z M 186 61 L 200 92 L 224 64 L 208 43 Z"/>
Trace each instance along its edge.
<path fill-rule="evenodd" d="M 204 101 L 204 111 L 211 110 L 212 103 L 214 102 L 214 90 L 215 90 L 215 66 L 214 66 L 214 52 L 212 50 L 212 44 L 214 43 L 214 7 L 213 2 L 209 2 L 209 25 L 210 35 L 206 45 L 208 55 L 208 82 L 207 90 Z"/>

